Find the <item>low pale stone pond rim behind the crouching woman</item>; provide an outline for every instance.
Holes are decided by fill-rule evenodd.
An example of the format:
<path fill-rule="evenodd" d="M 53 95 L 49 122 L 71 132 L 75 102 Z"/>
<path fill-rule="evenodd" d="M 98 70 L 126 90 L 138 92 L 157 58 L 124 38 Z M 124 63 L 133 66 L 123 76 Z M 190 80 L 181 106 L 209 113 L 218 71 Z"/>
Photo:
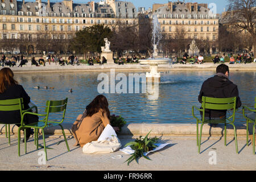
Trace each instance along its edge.
<path fill-rule="evenodd" d="M 72 123 L 63 123 L 65 134 L 71 136 Z M 200 130 L 199 125 L 199 130 Z M 237 136 L 246 136 L 246 124 L 236 123 Z M 10 126 L 11 135 L 17 136 L 18 127 Z M 151 135 L 163 136 L 194 136 L 196 135 L 196 124 L 192 123 L 129 123 L 122 127 L 122 132 L 119 135 L 146 135 L 151 130 Z M 227 136 L 234 136 L 232 125 L 227 125 Z M 59 126 L 50 127 L 44 130 L 46 135 L 62 135 Z M 23 132 L 22 132 L 23 134 Z M 5 125 L 0 125 L 0 135 L 5 135 Z M 218 127 L 210 127 L 204 125 L 203 136 L 222 136 L 224 135 L 224 124 L 219 124 Z"/>

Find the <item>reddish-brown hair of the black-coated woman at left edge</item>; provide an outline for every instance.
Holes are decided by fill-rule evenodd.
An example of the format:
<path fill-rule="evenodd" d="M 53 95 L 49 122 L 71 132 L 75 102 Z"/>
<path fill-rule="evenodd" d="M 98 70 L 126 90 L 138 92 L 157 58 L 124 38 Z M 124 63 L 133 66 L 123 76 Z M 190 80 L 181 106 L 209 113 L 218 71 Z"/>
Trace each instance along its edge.
<path fill-rule="evenodd" d="M 18 81 L 14 80 L 14 74 L 10 68 L 2 68 L 0 70 L 0 93 L 5 92 L 9 86 L 18 84 Z"/>

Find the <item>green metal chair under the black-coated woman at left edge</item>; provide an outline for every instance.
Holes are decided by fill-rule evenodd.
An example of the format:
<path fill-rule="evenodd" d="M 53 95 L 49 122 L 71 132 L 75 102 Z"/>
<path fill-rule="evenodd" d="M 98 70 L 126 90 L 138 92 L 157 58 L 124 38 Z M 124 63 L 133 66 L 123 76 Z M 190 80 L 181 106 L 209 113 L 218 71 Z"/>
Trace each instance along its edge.
<path fill-rule="evenodd" d="M 24 105 L 23 105 L 23 98 L 15 98 L 15 99 L 9 99 L 9 100 L 0 100 L 0 111 L 15 111 L 15 110 L 19 110 L 20 111 L 20 118 L 22 117 L 22 114 L 26 111 L 29 111 L 31 109 L 35 108 L 36 109 L 36 113 L 38 111 L 38 108 L 36 106 L 32 106 L 27 110 L 23 110 L 24 109 Z M 5 124 L 3 121 L 0 122 Z M 20 123 L 20 122 L 19 122 Z M 19 124 L 16 123 L 16 124 Z M 7 130 L 8 127 L 8 130 Z M 10 137 L 10 124 L 5 124 L 5 135 L 6 138 L 9 138 L 8 142 L 9 142 L 9 146 L 11 144 L 11 137 Z M 7 136 L 8 135 L 8 136 Z"/>

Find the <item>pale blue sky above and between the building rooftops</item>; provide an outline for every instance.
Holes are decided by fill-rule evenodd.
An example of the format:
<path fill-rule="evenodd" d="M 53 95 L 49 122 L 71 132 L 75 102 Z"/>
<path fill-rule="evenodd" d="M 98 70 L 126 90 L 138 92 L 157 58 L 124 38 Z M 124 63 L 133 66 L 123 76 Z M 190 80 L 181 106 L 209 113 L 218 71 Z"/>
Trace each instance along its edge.
<path fill-rule="evenodd" d="M 21 1 L 21 0 L 19 0 Z M 35 1 L 35 0 L 25 0 L 26 1 Z M 43 2 L 47 2 L 47 0 L 42 0 Z M 61 2 L 61 0 L 50 0 L 51 2 Z M 100 0 L 94 0 L 95 2 L 100 2 Z M 123 0 L 124 1 L 124 0 Z M 134 6 L 138 9 L 138 7 L 146 7 L 146 9 L 148 9 L 148 7 L 152 8 L 152 5 L 154 3 L 168 3 L 168 1 L 170 0 L 126 0 L 128 2 L 132 2 L 134 4 Z M 181 2 L 183 2 L 183 0 L 180 0 Z M 89 2 L 88 0 L 84 1 L 84 0 L 73 0 L 74 3 L 87 3 Z M 175 2 L 175 1 L 173 1 Z M 227 9 L 227 5 L 228 0 L 185 0 L 185 2 L 198 2 L 198 3 L 207 3 L 208 5 L 210 3 L 216 3 L 217 6 L 217 13 L 220 14 L 224 11 L 224 8 Z"/>

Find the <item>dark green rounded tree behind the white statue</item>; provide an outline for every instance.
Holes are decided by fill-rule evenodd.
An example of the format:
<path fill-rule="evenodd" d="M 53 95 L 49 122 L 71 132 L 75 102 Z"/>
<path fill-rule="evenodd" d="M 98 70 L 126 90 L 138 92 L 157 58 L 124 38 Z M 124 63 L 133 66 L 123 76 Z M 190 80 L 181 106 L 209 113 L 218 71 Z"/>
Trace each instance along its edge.
<path fill-rule="evenodd" d="M 85 27 L 76 32 L 72 42 L 72 48 L 80 53 L 101 52 L 101 46 L 104 46 L 104 38 L 110 38 L 112 31 L 104 24 L 96 24 L 91 27 Z"/>

